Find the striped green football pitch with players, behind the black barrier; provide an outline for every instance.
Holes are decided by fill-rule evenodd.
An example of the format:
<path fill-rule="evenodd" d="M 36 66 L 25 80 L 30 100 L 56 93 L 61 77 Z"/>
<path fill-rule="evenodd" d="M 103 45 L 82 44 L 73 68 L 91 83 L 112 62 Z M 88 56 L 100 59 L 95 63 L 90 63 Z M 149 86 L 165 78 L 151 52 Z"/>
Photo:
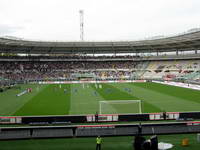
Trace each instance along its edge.
<path fill-rule="evenodd" d="M 0 93 L 0 115 L 77 115 L 100 111 L 101 101 L 141 100 L 143 113 L 200 111 L 200 91 L 159 83 L 26 84 Z M 31 93 L 16 96 L 27 88 Z M 111 113 L 138 113 L 138 104 L 107 104 Z M 128 111 L 127 111 L 128 110 Z"/>

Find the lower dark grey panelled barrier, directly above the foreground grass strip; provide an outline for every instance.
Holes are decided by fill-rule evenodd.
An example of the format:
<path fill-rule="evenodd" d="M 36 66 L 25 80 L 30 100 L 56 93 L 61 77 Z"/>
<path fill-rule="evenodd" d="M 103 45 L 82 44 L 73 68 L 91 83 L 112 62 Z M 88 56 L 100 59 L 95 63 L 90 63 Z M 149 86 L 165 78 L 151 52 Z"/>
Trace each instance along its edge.
<path fill-rule="evenodd" d="M 141 128 L 140 128 L 141 127 Z M 142 125 L 77 125 L 0 128 L 0 139 L 72 138 L 100 136 L 135 136 L 161 134 L 190 134 L 200 132 L 200 122 Z"/>

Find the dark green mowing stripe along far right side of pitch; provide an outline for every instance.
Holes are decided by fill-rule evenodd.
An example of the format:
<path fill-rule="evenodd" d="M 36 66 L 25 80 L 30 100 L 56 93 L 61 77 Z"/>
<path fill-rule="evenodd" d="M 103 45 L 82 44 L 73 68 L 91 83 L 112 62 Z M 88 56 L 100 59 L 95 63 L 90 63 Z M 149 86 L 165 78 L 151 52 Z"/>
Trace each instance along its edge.
<path fill-rule="evenodd" d="M 194 101 L 200 103 L 200 91 L 176 87 L 171 85 L 163 85 L 159 83 L 147 82 L 147 83 L 135 83 L 135 86 L 146 88 L 152 91 L 160 92 L 174 97 L 179 97 L 181 99 Z"/>

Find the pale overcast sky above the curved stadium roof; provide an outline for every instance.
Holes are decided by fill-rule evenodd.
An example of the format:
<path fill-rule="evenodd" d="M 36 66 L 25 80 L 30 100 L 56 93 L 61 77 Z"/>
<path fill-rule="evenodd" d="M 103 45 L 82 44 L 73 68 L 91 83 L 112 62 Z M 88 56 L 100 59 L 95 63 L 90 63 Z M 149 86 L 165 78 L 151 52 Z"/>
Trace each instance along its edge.
<path fill-rule="evenodd" d="M 42 41 L 141 40 L 200 28 L 200 0 L 0 0 L 0 36 Z"/>

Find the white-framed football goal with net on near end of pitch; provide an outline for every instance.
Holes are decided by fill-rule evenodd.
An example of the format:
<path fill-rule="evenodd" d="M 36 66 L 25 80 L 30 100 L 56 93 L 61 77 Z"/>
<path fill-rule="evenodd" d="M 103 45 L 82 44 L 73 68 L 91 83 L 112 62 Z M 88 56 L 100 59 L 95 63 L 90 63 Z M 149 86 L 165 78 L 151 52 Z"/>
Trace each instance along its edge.
<path fill-rule="evenodd" d="M 99 101 L 100 114 L 142 113 L 141 100 Z"/>

